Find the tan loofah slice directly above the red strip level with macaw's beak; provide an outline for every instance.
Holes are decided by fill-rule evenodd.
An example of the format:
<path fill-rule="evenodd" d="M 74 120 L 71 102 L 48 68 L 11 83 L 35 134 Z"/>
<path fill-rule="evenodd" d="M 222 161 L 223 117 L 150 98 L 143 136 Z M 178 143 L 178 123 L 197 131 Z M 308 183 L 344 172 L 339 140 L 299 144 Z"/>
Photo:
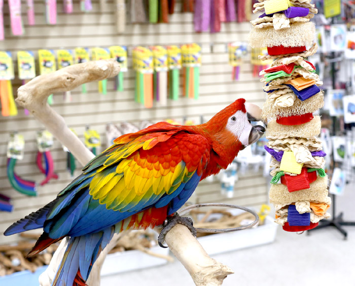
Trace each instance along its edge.
<path fill-rule="evenodd" d="M 287 89 L 283 89 L 282 91 L 288 91 Z M 324 105 L 324 92 L 321 91 L 312 97 L 301 101 L 299 98 L 296 98 L 294 104 L 290 107 L 280 107 L 275 106 L 274 98 L 285 94 L 277 94 L 279 90 L 274 91 L 268 94 L 268 99 L 265 101 L 263 106 L 263 112 L 261 114 L 263 120 L 267 119 L 275 119 L 276 117 L 287 117 L 293 115 L 300 115 L 305 113 L 313 113 L 319 108 L 322 108 Z"/>

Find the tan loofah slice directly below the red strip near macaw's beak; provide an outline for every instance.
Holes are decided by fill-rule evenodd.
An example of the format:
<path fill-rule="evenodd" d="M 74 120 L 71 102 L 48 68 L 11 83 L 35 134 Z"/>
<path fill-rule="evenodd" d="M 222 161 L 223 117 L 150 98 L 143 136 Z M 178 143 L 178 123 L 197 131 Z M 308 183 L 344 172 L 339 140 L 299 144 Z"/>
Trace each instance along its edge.
<path fill-rule="evenodd" d="M 266 137 L 275 136 L 278 138 L 301 137 L 311 138 L 321 133 L 321 117 L 316 115 L 312 120 L 297 126 L 277 124 L 275 120 L 268 122 Z"/>

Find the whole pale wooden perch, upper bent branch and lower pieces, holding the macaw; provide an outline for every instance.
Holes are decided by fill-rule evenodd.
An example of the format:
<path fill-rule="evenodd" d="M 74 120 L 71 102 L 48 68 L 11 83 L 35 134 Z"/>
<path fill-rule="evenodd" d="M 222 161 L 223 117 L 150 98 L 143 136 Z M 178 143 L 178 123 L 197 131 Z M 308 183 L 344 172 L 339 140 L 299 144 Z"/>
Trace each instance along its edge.
<path fill-rule="evenodd" d="M 47 98 L 50 94 L 70 91 L 89 81 L 113 77 L 119 71 L 120 66 L 115 59 L 71 65 L 56 72 L 33 78 L 18 89 L 16 101 L 42 122 L 46 129 L 65 145 L 84 166 L 94 157 L 94 154 L 69 130 L 63 117 L 47 104 Z M 121 235 L 115 234 L 108 246 L 99 255 L 87 281 L 88 285 L 98 286 L 100 284 L 100 270 L 103 261 Z M 185 226 L 174 226 L 166 235 L 166 243 L 176 258 L 189 271 L 198 286 L 221 285 L 223 279 L 228 274 L 233 273 L 229 267 L 211 259 Z M 54 253 L 49 267 L 40 276 L 41 286 L 51 285 L 66 246 L 67 240 L 63 239 Z"/>

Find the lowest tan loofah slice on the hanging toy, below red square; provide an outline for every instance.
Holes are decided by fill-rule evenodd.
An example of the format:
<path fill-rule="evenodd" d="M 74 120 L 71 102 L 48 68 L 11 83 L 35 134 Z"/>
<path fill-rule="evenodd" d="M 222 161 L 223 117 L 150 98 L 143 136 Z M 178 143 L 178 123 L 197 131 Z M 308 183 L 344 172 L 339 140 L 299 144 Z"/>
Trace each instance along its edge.
<path fill-rule="evenodd" d="M 291 203 L 299 200 L 328 203 L 330 198 L 328 197 L 327 185 L 328 177 L 318 177 L 315 182 L 310 184 L 309 189 L 290 193 L 287 186 L 272 184 L 269 192 L 270 202 L 283 206 L 291 205 Z"/>

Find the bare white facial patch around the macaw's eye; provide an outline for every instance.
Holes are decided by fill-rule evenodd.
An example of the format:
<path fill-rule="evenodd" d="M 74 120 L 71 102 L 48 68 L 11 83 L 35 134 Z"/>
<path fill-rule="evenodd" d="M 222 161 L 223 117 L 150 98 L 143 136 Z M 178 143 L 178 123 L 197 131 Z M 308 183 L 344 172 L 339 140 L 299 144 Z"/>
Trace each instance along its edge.
<path fill-rule="evenodd" d="M 233 120 L 233 117 L 235 117 L 235 120 Z M 239 139 L 241 144 L 248 145 L 253 126 L 249 123 L 246 113 L 238 110 L 232 116 L 229 116 L 226 128 Z"/>

